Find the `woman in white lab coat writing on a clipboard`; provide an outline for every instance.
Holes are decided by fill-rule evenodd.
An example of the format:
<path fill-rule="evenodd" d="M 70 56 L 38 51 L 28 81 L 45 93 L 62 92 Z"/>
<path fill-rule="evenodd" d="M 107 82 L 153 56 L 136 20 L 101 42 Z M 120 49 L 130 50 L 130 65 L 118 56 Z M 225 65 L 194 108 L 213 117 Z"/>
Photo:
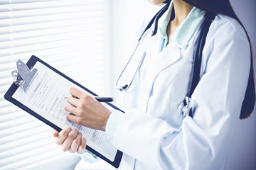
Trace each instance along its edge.
<path fill-rule="evenodd" d="M 121 168 L 125 170 L 230 169 L 230 145 L 252 57 L 246 31 L 228 0 L 165 3 L 169 8 L 158 21 L 156 35 L 145 36 L 139 45 L 146 55 L 132 84 L 120 92 L 125 114 L 111 112 L 88 94 L 71 88 L 72 97 L 67 100 L 72 106 L 65 106 L 70 113 L 67 118 L 105 131 L 107 141 L 124 152 Z M 193 51 L 206 11 L 218 15 L 203 48 L 191 118 L 179 114 L 178 106 L 191 81 Z M 65 128 L 53 136 L 64 151 L 85 152 L 86 140 L 77 130 Z"/>

